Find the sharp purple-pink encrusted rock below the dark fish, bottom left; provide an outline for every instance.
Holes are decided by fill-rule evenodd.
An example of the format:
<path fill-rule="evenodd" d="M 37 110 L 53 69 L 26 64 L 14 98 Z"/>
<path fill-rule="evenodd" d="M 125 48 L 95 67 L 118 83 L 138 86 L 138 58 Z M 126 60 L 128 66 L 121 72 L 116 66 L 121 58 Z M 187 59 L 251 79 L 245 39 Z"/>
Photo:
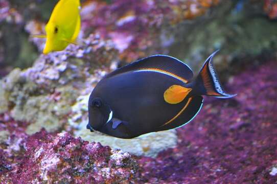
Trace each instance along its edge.
<path fill-rule="evenodd" d="M 24 132 L 24 123 L 0 117 L 1 183 L 130 183 L 137 171 L 132 155 L 69 133 Z"/>

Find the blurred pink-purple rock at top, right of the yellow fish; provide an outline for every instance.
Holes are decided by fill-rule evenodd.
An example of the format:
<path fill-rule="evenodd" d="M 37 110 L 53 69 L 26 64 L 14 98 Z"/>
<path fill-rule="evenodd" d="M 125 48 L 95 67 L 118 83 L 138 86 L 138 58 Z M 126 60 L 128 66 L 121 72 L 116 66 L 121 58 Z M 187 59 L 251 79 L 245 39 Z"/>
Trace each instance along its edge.
<path fill-rule="evenodd" d="M 164 27 L 203 15 L 218 4 L 219 0 L 119 0 L 107 6 L 101 1 L 86 1 L 82 5 L 82 27 L 94 28 L 101 37 L 111 39 L 120 59 L 131 62 L 161 49 L 165 40 L 159 36 Z"/>

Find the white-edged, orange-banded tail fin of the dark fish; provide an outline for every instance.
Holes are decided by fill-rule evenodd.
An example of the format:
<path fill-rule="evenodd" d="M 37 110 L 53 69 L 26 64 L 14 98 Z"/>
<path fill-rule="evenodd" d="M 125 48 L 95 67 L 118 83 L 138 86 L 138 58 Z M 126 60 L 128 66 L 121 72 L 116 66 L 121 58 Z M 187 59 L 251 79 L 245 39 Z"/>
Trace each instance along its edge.
<path fill-rule="evenodd" d="M 213 66 L 213 57 L 217 52 L 218 50 L 206 59 L 196 78 L 196 86 L 200 89 L 201 95 L 214 96 L 217 98 L 232 98 L 236 95 L 225 93 Z"/>

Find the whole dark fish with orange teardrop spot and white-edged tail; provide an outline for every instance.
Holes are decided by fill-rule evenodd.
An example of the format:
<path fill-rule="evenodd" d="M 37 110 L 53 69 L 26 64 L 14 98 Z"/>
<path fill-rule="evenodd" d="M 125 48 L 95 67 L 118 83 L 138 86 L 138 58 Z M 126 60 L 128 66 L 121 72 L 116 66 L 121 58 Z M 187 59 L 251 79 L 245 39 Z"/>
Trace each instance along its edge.
<path fill-rule="evenodd" d="M 198 76 L 180 60 L 150 56 L 105 76 L 88 101 L 87 128 L 131 139 L 190 122 L 202 107 L 201 95 L 231 98 L 224 92 L 209 56 Z"/>

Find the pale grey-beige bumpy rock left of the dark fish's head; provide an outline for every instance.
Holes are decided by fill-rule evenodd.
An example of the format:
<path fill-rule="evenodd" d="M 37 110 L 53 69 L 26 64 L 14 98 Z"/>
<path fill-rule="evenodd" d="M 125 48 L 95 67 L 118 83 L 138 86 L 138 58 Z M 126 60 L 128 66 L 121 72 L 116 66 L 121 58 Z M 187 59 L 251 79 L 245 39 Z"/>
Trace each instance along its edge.
<path fill-rule="evenodd" d="M 97 65 L 111 61 L 114 55 L 108 43 L 97 43 L 85 49 L 71 45 L 66 51 L 41 55 L 25 71 L 12 71 L 1 81 L 0 93 L 4 95 L 0 98 L 3 106 L 0 111 L 10 107 L 15 120 L 32 122 L 27 128 L 30 134 L 42 127 L 48 131 L 59 130 L 67 123 L 66 117 L 76 98 L 90 93 L 105 70 L 109 71 L 107 67 L 94 70 Z M 80 53 L 82 59 L 79 59 Z"/>

